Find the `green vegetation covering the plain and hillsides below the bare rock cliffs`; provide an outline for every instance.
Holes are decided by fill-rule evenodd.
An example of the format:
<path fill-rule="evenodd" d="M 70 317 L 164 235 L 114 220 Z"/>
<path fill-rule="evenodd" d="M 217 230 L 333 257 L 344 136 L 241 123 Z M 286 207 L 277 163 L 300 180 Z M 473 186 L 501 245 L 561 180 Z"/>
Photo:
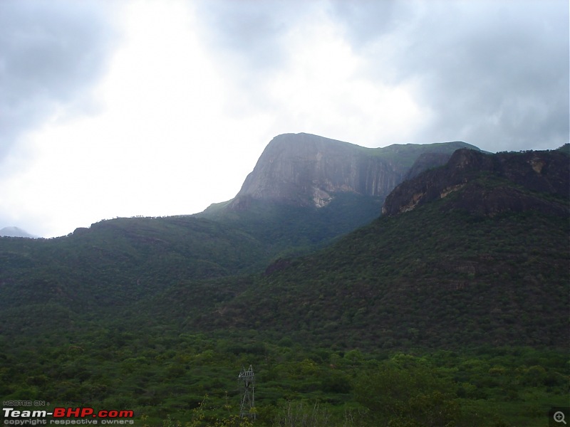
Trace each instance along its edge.
<path fill-rule="evenodd" d="M 302 257 L 287 248 L 340 224 L 269 209 L 2 238 L 0 395 L 139 426 L 546 425 L 570 393 L 568 197 L 516 186 L 550 214 L 457 204 L 513 185 L 483 174 Z M 255 420 L 237 416 L 249 364 Z"/>

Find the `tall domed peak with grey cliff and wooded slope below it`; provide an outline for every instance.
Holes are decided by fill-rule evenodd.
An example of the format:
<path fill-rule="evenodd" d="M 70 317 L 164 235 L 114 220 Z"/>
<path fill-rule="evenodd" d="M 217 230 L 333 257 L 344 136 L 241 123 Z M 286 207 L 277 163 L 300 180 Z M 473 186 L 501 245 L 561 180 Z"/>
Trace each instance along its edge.
<path fill-rule="evenodd" d="M 198 216 L 266 243 L 269 258 L 299 255 L 366 225 L 410 171 L 446 162 L 465 142 L 365 148 L 316 135 L 274 137 L 234 199 Z"/>

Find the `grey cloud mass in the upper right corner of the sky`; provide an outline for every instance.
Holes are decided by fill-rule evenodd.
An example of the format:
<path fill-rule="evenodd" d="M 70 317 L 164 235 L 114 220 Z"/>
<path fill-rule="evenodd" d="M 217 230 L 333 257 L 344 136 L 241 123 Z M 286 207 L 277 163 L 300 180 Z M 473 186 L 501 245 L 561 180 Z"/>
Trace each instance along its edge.
<path fill-rule="evenodd" d="M 396 58 L 435 113 L 429 139 L 485 149 L 554 148 L 569 137 L 566 1 L 442 2 Z"/>

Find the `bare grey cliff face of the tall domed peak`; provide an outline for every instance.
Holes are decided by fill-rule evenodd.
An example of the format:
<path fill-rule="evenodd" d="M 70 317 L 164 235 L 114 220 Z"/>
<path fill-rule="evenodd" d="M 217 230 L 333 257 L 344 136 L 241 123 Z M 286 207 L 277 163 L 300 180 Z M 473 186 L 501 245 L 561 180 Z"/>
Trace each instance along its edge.
<path fill-rule="evenodd" d="M 304 133 L 279 135 L 261 154 L 229 208 L 247 209 L 252 199 L 320 208 L 339 192 L 383 199 L 424 152 L 437 150 L 435 157 L 417 165 L 416 170 L 432 167 L 434 161 L 445 162 L 453 149 L 465 145 L 452 142 L 371 149 Z"/>

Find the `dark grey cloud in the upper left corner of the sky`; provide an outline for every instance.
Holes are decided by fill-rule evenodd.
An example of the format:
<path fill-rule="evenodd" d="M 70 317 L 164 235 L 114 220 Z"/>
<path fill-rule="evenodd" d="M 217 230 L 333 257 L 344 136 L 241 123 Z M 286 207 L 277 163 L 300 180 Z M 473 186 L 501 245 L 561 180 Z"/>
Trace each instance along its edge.
<path fill-rule="evenodd" d="M 0 160 L 100 76 L 115 36 L 108 13 L 90 1 L 0 1 Z"/>

